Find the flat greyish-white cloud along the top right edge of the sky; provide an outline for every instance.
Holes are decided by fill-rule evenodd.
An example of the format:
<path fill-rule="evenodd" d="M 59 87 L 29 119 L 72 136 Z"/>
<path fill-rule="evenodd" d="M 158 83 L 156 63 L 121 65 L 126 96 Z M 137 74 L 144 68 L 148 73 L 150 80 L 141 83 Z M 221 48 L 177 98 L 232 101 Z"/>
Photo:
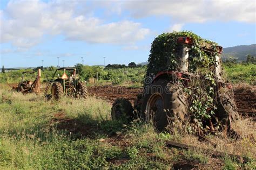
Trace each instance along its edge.
<path fill-rule="evenodd" d="M 123 4 L 135 18 L 169 16 L 179 23 L 211 20 L 255 23 L 255 6 L 253 0 L 129 1 Z"/>

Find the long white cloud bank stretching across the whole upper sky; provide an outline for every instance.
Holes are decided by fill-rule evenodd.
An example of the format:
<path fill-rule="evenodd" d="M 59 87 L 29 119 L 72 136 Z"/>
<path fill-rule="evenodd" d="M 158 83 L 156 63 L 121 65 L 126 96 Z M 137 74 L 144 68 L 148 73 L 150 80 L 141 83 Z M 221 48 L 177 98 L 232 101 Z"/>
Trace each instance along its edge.
<path fill-rule="evenodd" d="M 255 3 L 251 0 L 10 1 L 0 10 L 0 40 L 21 50 L 35 46 L 48 35 L 62 35 L 70 41 L 135 47 L 137 41 L 151 32 L 134 22 L 138 18 L 167 16 L 176 23 L 170 26 L 170 31 L 180 31 L 186 23 L 255 23 Z M 108 22 L 95 17 L 98 9 L 121 19 Z"/>

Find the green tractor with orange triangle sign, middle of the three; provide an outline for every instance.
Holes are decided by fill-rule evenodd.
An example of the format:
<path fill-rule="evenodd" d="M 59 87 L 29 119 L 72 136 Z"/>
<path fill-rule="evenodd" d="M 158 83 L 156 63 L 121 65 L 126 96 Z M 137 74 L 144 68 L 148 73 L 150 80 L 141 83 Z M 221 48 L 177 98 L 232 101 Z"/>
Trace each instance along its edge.
<path fill-rule="evenodd" d="M 62 73 L 62 76 L 60 76 Z M 56 74 L 57 79 L 56 79 Z M 48 90 L 51 87 L 50 94 Z M 87 97 L 86 82 L 82 82 L 79 79 L 76 68 L 63 67 L 56 69 L 50 82 L 46 86 L 44 96 L 47 98 L 53 98 L 59 100 L 63 96 L 71 96 L 76 98 Z"/>

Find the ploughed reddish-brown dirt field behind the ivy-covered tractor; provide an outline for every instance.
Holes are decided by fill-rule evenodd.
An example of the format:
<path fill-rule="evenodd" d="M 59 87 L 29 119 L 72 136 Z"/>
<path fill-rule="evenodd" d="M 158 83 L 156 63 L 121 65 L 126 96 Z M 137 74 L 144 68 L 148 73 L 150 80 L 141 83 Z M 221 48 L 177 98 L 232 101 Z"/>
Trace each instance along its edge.
<path fill-rule="evenodd" d="M 138 93 L 143 91 L 143 88 L 126 88 L 126 87 L 113 87 L 113 86 L 92 86 L 88 88 L 90 95 L 95 95 L 100 98 L 109 100 L 111 103 L 116 98 L 127 98 L 132 104 L 134 99 L 137 98 Z M 234 89 L 235 101 L 237 102 L 239 112 L 244 115 L 256 114 L 256 87 L 252 90 L 241 91 Z"/>

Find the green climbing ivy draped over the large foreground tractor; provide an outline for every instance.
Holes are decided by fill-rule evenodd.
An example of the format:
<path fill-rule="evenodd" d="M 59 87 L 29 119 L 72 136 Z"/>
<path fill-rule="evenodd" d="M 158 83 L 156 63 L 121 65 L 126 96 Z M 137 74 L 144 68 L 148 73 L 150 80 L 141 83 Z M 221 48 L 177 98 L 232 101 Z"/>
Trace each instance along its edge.
<path fill-rule="evenodd" d="M 199 78 L 191 78 L 189 87 L 183 89 L 188 99 L 190 120 L 203 129 L 203 122 L 211 119 L 217 109 L 215 56 L 218 55 L 218 48 L 215 42 L 203 39 L 191 31 L 163 33 L 152 42 L 146 76 L 153 78 L 161 71 L 180 70 L 176 42 L 179 37 L 192 39 L 188 52 L 188 72 L 199 75 Z M 211 52 L 204 50 L 206 44 Z"/>

